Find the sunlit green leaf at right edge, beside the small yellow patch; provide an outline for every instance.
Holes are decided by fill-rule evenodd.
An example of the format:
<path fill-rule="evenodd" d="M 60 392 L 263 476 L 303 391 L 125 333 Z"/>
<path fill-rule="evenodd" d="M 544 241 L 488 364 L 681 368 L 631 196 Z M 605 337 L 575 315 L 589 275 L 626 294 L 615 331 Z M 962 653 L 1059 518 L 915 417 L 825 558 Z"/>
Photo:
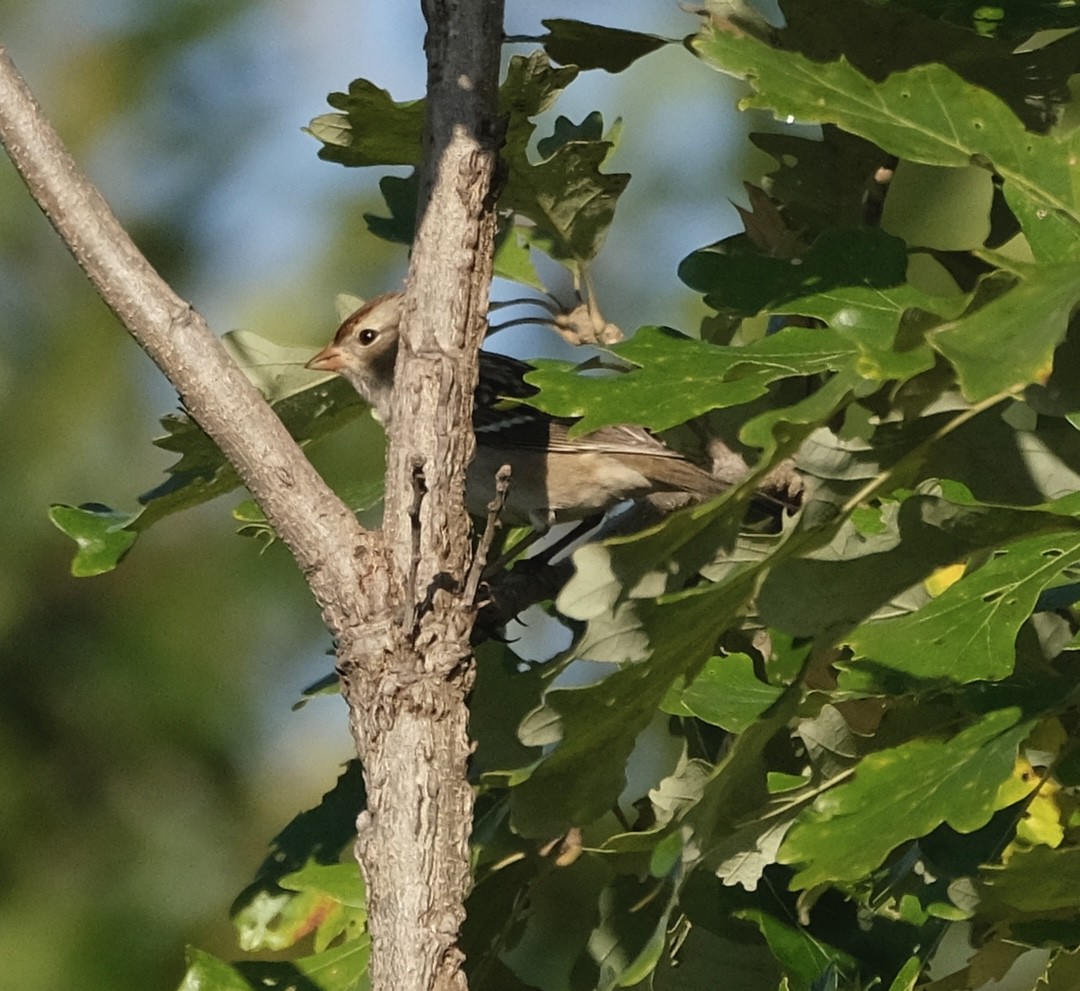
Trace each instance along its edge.
<path fill-rule="evenodd" d="M 1016 635 L 1039 595 L 1077 562 L 1076 532 L 1017 541 L 917 612 L 864 623 L 846 642 L 856 660 L 914 678 L 1000 680 L 1013 669 Z"/>

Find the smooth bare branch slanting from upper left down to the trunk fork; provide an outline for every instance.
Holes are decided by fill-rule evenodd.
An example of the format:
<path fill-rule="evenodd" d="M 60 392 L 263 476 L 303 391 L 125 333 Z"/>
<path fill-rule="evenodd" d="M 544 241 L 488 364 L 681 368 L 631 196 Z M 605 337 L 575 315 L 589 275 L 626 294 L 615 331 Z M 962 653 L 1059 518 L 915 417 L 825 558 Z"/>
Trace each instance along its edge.
<path fill-rule="evenodd" d="M 0 140 L 106 304 L 237 469 L 296 557 L 327 622 L 361 622 L 373 608 L 356 596 L 357 556 L 361 562 L 381 556 L 376 538 L 365 534 L 319 477 L 205 321 L 135 246 L 77 167 L 3 47 Z M 369 584 L 366 593 L 377 588 Z"/>

